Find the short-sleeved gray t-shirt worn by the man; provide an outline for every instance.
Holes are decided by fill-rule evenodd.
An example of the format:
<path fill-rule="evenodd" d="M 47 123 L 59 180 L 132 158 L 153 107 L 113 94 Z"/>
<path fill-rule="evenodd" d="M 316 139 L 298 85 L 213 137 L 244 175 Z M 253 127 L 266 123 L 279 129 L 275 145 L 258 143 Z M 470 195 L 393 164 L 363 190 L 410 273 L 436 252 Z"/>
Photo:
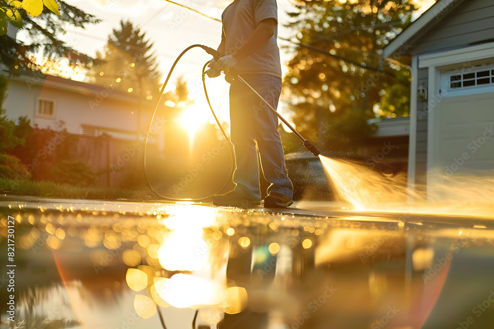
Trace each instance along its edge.
<path fill-rule="evenodd" d="M 223 34 L 226 41 L 225 55 L 235 54 L 255 30 L 260 21 L 266 18 L 278 20 L 276 0 L 236 0 L 223 11 Z M 280 48 L 275 33 L 259 51 L 239 61 L 234 68 L 239 73 L 264 73 L 281 78 Z"/>

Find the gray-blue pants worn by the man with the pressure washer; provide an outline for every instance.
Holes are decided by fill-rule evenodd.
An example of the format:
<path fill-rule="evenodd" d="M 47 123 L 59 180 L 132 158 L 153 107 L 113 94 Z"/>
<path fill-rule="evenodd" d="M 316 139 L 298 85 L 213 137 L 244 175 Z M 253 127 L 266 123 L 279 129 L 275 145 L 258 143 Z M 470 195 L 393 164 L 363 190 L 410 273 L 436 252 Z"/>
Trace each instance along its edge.
<path fill-rule="evenodd" d="M 274 109 L 278 107 L 282 82 L 270 74 L 240 74 Z M 235 146 L 237 169 L 233 175 L 235 191 L 249 198 L 260 199 L 259 165 L 271 183 L 267 192 L 293 196 L 293 185 L 288 178 L 278 117 L 240 81 L 230 86 L 231 137 Z"/>

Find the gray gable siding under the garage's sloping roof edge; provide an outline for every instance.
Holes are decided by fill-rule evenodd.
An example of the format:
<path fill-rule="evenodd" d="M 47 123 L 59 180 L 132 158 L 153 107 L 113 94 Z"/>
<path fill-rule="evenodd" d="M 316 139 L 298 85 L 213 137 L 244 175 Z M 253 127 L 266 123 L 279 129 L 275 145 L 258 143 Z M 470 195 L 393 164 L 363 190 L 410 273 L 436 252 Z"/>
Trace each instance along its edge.
<path fill-rule="evenodd" d="M 464 1 L 422 37 L 413 54 L 460 48 L 494 39 L 494 2 Z"/>

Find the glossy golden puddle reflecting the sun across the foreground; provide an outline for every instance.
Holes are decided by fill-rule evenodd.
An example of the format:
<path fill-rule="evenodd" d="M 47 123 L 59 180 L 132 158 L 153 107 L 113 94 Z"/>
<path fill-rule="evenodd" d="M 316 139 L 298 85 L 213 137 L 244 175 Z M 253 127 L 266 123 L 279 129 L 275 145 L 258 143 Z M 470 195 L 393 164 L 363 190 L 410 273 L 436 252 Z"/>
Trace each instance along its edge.
<path fill-rule="evenodd" d="M 2 307 L 2 329 L 493 328 L 488 223 L 57 209 L 6 212 L 17 313 Z"/>

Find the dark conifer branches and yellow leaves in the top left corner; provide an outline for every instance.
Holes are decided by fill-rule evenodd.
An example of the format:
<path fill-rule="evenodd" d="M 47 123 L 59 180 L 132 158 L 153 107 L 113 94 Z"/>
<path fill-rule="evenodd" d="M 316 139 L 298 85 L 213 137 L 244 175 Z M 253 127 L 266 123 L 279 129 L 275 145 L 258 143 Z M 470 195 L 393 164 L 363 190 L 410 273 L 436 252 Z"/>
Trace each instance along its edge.
<path fill-rule="evenodd" d="M 25 32 L 26 42 L 5 34 L 7 20 Z M 65 35 L 68 27 L 84 28 L 98 22 L 93 15 L 62 0 L 0 0 L 0 62 L 8 68 L 39 69 L 33 56 L 41 52 L 53 60 L 65 57 L 71 64 L 87 65 L 92 58 L 72 49 L 59 36 Z"/>

